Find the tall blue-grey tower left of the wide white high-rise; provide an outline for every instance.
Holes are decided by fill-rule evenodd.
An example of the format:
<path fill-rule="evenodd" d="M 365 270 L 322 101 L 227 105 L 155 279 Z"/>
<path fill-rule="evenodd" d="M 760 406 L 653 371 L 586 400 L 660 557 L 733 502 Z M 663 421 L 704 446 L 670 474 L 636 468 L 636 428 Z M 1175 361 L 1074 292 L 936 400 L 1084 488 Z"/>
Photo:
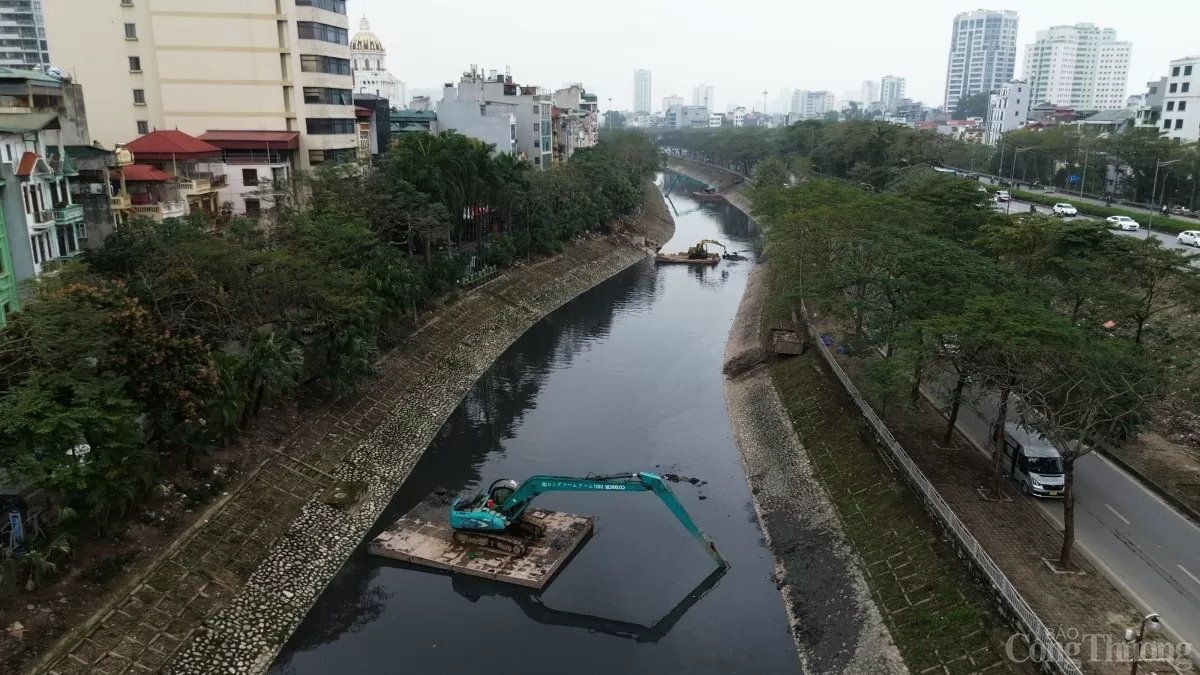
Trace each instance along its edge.
<path fill-rule="evenodd" d="M 946 64 L 946 109 L 959 98 L 988 94 L 1016 70 L 1016 12 L 976 10 L 954 17 Z"/>

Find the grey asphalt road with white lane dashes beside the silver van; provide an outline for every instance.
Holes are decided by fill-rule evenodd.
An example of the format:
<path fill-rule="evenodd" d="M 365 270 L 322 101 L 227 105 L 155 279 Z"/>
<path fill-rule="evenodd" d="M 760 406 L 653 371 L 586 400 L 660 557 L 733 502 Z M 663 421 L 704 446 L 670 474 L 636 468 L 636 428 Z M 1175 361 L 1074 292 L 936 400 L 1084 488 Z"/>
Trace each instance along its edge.
<path fill-rule="evenodd" d="M 949 384 L 949 377 L 935 382 L 926 394 L 944 402 Z M 978 392 L 968 400 L 958 428 L 986 447 L 998 401 Z M 1061 501 L 1015 498 L 1034 500 L 1062 527 Z M 1139 608 L 1160 614 L 1177 639 L 1200 646 L 1200 526 L 1094 453 L 1075 461 L 1075 507 L 1076 548 Z M 1200 655 L 1193 659 L 1200 664 Z"/>

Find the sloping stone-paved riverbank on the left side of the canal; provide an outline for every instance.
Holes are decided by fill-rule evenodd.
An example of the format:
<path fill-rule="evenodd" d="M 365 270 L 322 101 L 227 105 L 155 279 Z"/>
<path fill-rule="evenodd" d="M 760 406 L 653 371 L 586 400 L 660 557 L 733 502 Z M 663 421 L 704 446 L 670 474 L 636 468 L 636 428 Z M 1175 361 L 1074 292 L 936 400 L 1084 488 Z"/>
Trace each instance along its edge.
<path fill-rule="evenodd" d="M 35 671 L 265 670 L 475 380 L 541 317 L 643 261 L 637 238 L 665 241 L 673 227 L 647 185 L 616 234 L 515 267 L 438 312 L 361 398 L 311 416 Z M 362 492 L 329 506 L 320 496 L 335 486 Z"/>

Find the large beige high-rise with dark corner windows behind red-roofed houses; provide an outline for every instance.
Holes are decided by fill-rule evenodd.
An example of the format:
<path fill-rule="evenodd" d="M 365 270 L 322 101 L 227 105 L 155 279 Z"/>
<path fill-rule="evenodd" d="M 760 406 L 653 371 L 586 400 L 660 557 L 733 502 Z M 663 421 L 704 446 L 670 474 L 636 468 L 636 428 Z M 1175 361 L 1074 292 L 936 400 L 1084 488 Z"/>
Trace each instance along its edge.
<path fill-rule="evenodd" d="M 358 157 L 344 0 L 47 2 L 54 65 L 84 88 L 91 137 L 296 131 L 300 165 Z M 166 8 L 179 11 L 166 11 Z"/>

